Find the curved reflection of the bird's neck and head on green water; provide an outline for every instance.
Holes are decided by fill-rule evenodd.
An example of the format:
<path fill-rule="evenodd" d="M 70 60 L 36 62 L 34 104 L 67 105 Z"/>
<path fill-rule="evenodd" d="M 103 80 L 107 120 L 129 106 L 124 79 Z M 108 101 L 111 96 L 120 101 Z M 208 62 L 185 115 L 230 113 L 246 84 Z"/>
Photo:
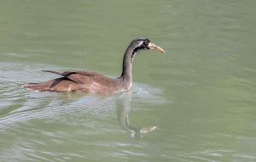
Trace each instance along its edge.
<path fill-rule="evenodd" d="M 131 126 L 129 114 L 131 111 L 131 92 L 124 92 L 117 102 L 117 115 L 120 126 L 131 138 L 141 138 L 144 134 L 154 131 L 156 126 Z"/>

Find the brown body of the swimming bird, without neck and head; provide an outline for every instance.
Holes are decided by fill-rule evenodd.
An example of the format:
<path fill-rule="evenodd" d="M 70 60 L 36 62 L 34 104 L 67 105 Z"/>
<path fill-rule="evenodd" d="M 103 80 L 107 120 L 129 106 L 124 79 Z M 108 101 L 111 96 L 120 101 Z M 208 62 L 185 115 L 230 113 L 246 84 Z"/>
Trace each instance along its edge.
<path fill-rule="evenodd" d="M 25 87 L 35 91 L 48 92 L 95 92 L 109 94 L 122 92 L 131 88 L 131 81 L 126 84 L 123 78 L 113 79 L 94 71 L 64 71 L 56 72 L 45 70 L 45 72 L 55 73 L 63 77 L 45 81 L 42 83 L 29 83 Z M 128 85 L 123 87 L 122 83 Z"/>

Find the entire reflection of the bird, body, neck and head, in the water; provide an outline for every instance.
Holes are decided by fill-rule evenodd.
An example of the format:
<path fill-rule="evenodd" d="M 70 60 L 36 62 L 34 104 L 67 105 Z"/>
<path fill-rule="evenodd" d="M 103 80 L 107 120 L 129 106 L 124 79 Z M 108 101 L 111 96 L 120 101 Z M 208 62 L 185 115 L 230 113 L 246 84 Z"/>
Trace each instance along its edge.
<path fill-rule="evenodd" d="M 61 100 L 61 104 L 63 105 L 66 105 L 67 103 L 73 101 L 73 104 L 79 104 L 79 106 L 81 106 L 82 104 L 83 107 L 84 104 L 87 105 L 87 107 L 90 107 L 92 105 L 95 105 L 95 101 L 98 101 L 99 103 L 102 103 L 102 105 L 108 105 L 108 109 L 116 107 L 119 125 L 127 132 L 129 137 L 141 138 L 148 132 L 156 130 L 156 126 L 131 126 L 129 115 L 131 111 L 132 96 L 132 92 L 122 92 L 108 98 L 97 95 L 84 96 L 83 93 L 68 92 L 60 95 L 59 101 Z M 98 109 L 94 110 L 97 111 Z"/>

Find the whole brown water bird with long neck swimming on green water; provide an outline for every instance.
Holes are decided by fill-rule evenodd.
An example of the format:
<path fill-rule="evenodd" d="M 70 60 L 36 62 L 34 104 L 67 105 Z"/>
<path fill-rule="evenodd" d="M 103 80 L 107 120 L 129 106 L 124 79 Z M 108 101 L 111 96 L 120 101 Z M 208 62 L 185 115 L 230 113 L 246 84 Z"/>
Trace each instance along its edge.
<path fill-rule="evenodd" d="M 122 73 L 118 78 L 111 78 L 91 70 L 68 70 L 44 72 L 61 75 L 51 81 L 39 83 L 26 83 L 22 87 L 37 92 L 92 92 L 100 94 L 112 94 L 128 91 L 132 87 L 132 62 L 136 54 L 142 50 L 153 49 L 160 53 L 165 50 L 154 44 L 146 37 L 138 37 L 131 41 L 125 50 Z"/>

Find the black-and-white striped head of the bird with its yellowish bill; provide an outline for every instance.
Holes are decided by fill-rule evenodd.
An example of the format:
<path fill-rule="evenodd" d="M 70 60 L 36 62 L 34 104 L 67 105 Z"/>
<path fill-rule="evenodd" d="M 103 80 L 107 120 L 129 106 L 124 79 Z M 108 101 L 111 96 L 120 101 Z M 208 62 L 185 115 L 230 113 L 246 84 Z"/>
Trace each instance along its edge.
<path fill-rule="evenodd" d="M 160 53 L 165 53 L 165 50 L 163 48 L 155 45 L 153 42 L 145 37 L 138 37 L 137 39 L 133 40 L 130 43 L 129 47 L 133 48 L 133 54 L 136 54 L 140 50 L 146 49 L 154 49 L 156 51 L 159 51 Z"/>

